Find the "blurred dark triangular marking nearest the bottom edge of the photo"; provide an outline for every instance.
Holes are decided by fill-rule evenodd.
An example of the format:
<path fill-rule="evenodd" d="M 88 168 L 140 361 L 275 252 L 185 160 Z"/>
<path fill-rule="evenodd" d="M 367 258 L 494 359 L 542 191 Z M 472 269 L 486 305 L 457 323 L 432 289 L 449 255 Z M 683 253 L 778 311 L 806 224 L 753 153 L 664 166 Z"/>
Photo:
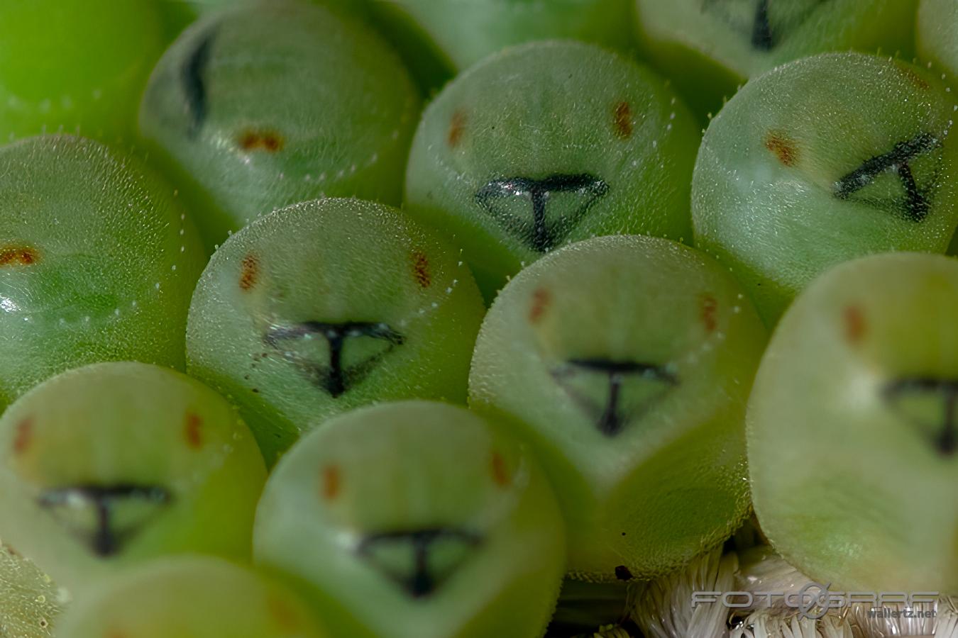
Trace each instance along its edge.
<path fill-rule="evenodd" d="M 471 532 L 443 527 L 380 532 L 362 539 L 356 553 L 409 596 L 422 598 L 432 594 L 467 561 L 469 549 L 480 540 Z M 443 556 L 438 556 L 440 553 Z"/>

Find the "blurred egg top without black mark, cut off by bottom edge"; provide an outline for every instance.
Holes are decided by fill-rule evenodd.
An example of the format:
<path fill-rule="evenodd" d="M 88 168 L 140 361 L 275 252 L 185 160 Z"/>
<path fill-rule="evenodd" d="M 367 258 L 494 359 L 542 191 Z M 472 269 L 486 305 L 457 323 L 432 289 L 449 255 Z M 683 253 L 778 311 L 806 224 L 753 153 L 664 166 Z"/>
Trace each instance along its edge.
<path fill-rule="evenodd" d="M 96 588 L 63 616 L 70 638 L 322 638 L 280 583 L 212 558 L 175 558 Z"/>

